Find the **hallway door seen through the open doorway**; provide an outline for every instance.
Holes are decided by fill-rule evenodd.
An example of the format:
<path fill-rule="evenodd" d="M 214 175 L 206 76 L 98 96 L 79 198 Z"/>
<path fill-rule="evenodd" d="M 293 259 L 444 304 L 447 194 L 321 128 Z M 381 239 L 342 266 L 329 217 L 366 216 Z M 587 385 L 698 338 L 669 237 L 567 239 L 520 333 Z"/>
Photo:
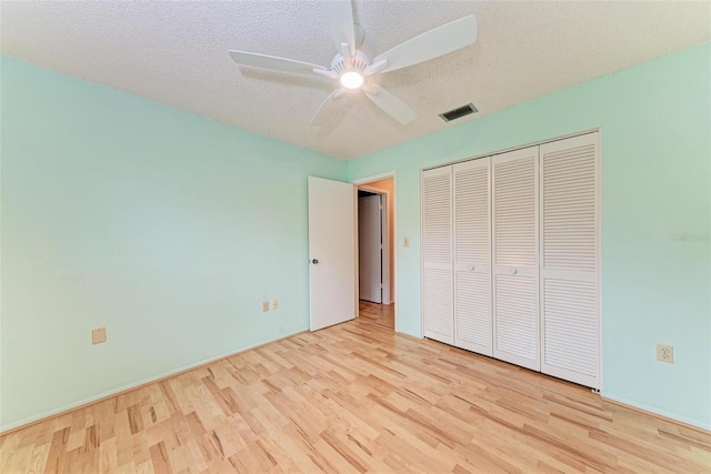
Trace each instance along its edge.
<path fill-rule="evenodd" d="M 382 196 L 358 198 L 359 297 L 382 303 Z"/>

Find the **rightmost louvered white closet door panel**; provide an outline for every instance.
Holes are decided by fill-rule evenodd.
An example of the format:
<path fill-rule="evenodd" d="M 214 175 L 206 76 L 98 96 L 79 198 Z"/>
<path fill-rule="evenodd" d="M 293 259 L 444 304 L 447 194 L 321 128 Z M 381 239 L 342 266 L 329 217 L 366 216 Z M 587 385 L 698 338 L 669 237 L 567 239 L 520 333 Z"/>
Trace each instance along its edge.
<path fill-rule="evenodd" d="M 598 133 L 541 145 L 541 371 L 600 387 Z"/>

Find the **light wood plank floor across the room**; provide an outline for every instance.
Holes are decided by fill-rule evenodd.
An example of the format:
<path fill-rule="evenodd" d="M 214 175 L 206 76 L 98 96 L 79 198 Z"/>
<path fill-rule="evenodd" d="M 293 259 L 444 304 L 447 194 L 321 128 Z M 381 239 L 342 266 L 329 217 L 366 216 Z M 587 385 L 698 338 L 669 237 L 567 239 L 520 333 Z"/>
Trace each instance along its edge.
<path fill-rule="evenodd" d="M 387 310 L 11 433 L 0 472 L 710 471 L 710 434 L 395 335 Z"/>

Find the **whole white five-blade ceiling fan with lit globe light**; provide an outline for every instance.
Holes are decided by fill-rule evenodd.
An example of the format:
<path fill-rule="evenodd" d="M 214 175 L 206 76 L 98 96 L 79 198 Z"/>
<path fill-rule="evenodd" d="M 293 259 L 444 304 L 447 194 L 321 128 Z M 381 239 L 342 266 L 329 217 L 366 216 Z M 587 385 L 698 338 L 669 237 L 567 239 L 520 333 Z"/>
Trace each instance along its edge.
<path fill-rule="evenodd" d="M 392 93 L 378 84 L 370 83 L 369 77 L 438 58 L 472 44 L 477 40 L 477 18 L 472 14 L 411 38 L 371 61 L 359 49 L 363 42 L 363 29 L 353 22 L 351 0 L 321 0 L 320 3 L 338 51 L 331 61 L 331 69 L 254 52 L 229 51 L 230 57 L 238 64 L 338 80 L 341 87 L 323 101 L 311 119 L 311 125 L 323 124 L 326 114 L 322 112 L 326 105 L 348 90 L 362 90 L 370 100 L 395 120 L 410 123 L 417 118 L 417 113 Z"/>

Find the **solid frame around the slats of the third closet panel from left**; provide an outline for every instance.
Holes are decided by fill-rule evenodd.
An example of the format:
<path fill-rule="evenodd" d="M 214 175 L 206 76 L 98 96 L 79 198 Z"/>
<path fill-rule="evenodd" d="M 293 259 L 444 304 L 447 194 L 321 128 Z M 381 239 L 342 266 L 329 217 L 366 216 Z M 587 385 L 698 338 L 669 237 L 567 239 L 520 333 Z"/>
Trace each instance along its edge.
<path fill-rule="evenodd" d="M 534 215 L 533 215 L 533 235 L 534 235 L 534 262 L 532 268 L 521 268 L 521 266 L 512 266 L 512 265 L 499 265 L 497 261 L 497 180 L 495 180 L 495 167 L 497 164 L 502 164 L 511 161 L 521 160 L 523 157 L 530 155 L 532 151 L 535 151 L 535 158 L 533 160 L 533 175 L 534 175 L 534 186 L 533 186 L 533 198 L 534 202 Z M 494 359 L 499 359 L 504 362 L 509 362 L 515 365 L 520 365 L 525 369 L 530 369 L 533 371 L 540 372 L 541 370 L 541 313 L 540 313 L 540 262 L 539 262 L 539 252 L 540 252 L 540 225 L 539 225 L 539 162 L 540 162 L 540 150 L 538 145 L 527 147 L 518 150 L 513 150 L 510 152 L 501 153 L 498 155 L 493 155 L 491 160 L 491 310 L 492 310 L 492 322 L 493 322 L 493 356 Z M 534 289 L 533 289 L 533 306 L 535 311 L 534 322 L 535 322 L 535 334 L 533 335 L 533 340 L 535 341 L 535 356 L 532 359 L 528 359 L 521 356 L 519 354 L 511 353 L 509 351 L 498 350 L 498 324 L 497 324 L 497 275 L 515 275 L 515 276 L 528 276 L 533 279 Z"/>

